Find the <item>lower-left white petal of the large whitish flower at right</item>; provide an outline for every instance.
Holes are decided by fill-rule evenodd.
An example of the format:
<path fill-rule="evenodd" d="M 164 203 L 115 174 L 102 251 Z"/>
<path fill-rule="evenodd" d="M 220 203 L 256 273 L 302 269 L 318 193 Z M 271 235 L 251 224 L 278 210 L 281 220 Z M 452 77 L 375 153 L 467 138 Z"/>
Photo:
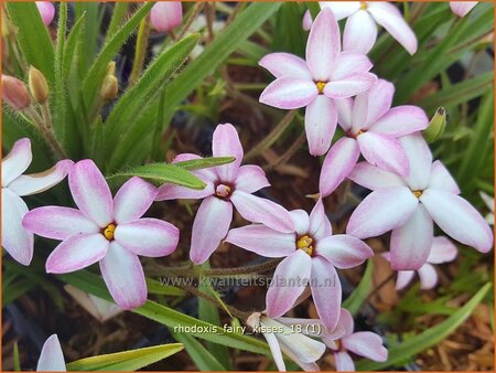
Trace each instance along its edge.
<path fill-rule="evenodd" d="M 419 200 L 406 186 L 376 190 L 355 209 L 346 234 L 358 238 L 379 236 L 403 225 L 418 204 Z"/>

